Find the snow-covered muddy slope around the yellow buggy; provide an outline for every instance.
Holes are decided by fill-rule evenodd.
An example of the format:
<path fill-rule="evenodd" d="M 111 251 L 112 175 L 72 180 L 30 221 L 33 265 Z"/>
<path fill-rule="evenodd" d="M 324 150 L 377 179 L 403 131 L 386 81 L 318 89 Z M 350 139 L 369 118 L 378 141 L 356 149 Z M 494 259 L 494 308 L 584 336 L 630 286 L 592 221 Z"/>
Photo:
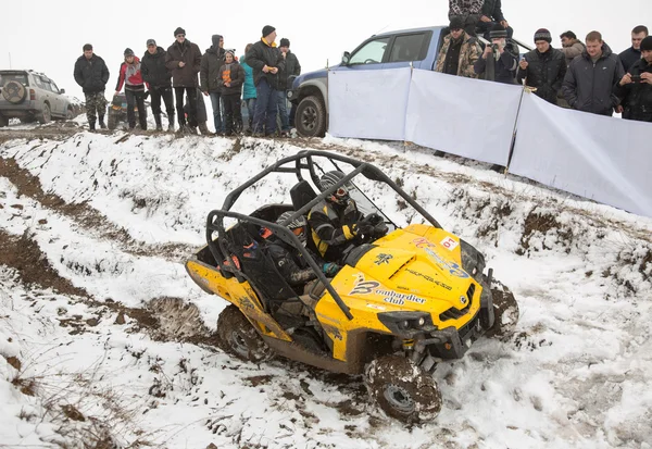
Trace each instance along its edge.
<path fill-rule="evenodd" d="M 125 136 L 0 146 L 0 448 L 652 448 L 652 220 L 402 144 Z M 211 345 L 227 303 L 184 258 L 229 190 L 306 147 L 380 166 L 518 300 L 513 337 L 438 366 L 432 423 L 384 416 L 358 377 Z M 371 198 L 418 220 L 388 194 Z"/>

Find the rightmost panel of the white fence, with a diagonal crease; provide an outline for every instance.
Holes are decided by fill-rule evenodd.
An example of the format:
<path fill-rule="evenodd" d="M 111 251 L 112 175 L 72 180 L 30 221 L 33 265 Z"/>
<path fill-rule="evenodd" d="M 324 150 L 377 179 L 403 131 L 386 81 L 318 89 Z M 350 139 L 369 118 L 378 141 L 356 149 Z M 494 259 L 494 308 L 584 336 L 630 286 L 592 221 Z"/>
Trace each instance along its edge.
<path fill-rule="evenodd" d="M 510 172 L 652 216 L 652 125 L 525 95 Z"/>

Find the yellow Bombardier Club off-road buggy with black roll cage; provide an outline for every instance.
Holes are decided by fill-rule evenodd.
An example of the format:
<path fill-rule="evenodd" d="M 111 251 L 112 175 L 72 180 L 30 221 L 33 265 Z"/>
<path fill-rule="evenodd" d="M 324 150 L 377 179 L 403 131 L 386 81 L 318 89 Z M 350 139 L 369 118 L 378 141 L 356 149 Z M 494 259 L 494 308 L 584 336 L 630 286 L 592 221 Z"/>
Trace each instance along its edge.
<path fill-rule="evenodd" d="M 317 195 L 309 179 L 317 186 L 325 165 L 348 174 Z M 291 204 L 264 205 L 250 215 L 230 210 L 246 189 L 272 173 L 297 176 Z M 396 226 L 355 187 L 356 176 L 389 186 L 427 224 Z M 327 278 L 310 244 L 304 248 L 284 225 L 344 185 L 360 210 L 381 216 L 389 232 L 353 241 L 341 270 Z M 276 224 L 287 211 L 296 212 Z M 225 220 L 235 225 L 227 229 Z M 265 250 L 269 232 L 302 254 L 316 280 L 301 291 L 284 280 Z M 442 229 L 380 170 L 336 153 L 299 152 L 231 191 L 223 209 L 209 214 L 206 241 L 186 269 L 204 291 L 231 303 L 217 321 L 224 350 L 253 362 L 278 354 L 363 374 L 372 400 L 404 422 L 439 413 L 441 394 L 432 378 L 438 361 L 463 357 L 478 337 L 511 332 L 518 320 L 514 296 L 492 278 L 491 269 L 485 273 L 482 254 Z"/>

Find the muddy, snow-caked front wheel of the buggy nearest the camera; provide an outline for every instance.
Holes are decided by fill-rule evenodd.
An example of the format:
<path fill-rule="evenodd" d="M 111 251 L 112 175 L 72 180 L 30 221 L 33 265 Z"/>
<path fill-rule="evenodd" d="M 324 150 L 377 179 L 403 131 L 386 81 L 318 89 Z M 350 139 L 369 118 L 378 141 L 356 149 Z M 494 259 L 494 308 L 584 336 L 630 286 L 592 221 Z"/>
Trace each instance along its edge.
<path fill-rule="evenodd" d="M 404 423 L 431 421 L 441 410 L 441 392 L 432 376 L 402 356 L 374 360 L 364 377 L 372 401 Z"/>

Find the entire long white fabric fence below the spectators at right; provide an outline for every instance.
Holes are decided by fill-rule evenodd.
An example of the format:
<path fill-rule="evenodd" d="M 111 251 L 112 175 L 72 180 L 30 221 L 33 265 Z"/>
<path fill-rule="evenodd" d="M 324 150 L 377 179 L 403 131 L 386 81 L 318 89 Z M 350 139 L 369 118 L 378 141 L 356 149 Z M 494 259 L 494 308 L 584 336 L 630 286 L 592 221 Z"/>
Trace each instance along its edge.
<path fill-rule="evenodd" d="M 336 137 L 410 140 L 652 216 L 652 124 L 549 104 L 523 89 L 431 71 L 328 73 Z"/>

